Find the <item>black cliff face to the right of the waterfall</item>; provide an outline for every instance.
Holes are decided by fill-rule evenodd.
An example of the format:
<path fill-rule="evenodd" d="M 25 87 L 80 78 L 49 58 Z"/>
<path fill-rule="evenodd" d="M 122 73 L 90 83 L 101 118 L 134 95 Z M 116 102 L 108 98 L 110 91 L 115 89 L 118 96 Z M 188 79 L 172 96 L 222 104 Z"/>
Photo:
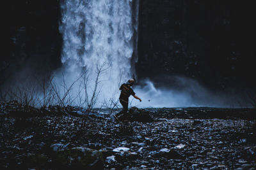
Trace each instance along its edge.
<path fill-rule="evenodd" d="M 241 1 L 140 1 L 138 77 L 170 85 L 178 74 L 212 89 L 255 86 L 253 8 Z"/>

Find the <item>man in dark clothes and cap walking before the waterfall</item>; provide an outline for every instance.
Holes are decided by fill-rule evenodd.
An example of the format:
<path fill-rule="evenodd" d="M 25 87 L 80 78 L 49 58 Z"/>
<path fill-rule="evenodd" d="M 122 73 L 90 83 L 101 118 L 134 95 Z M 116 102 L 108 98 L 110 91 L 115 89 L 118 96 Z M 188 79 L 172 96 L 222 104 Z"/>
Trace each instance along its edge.
<path fill-rule="evenodd" d="M 119 101 L 123 106 L 123 110 L 120 111 L 119 113 L 117 113 L 116 115 L 114 115 L 116 120 L 118 120 L 117 117 L 119 115 L 127 113 L 127 111 L 128 111 L 128 101 L 129 101 L 130 96 L 133 96 L 135 99 L 138 99 L 141 102 L 140 97 L 136 96 L 134 91 L 131 89 L 133 83 L 134 83 L 134 79 L 131 78 L 130 80 L 127 81 L 127 83 L 122 84 L 120 89 L 119 89 L 119 90 L 121 90 Z"/>

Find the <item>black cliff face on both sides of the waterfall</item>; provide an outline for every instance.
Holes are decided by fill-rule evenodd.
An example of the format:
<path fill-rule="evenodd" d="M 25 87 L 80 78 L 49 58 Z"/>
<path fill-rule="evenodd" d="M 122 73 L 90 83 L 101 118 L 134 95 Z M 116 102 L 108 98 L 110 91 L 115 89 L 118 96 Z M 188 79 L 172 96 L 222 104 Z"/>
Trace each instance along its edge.
<path fill-rule="evenodd" d="M 254 6 L 241 1 L 140 0 L 138 78 L 172 86 L 187 76 L 212 89 L 256 87 Z M 0 83 L 61 66 L 60 1 L 13 1 Z"/>

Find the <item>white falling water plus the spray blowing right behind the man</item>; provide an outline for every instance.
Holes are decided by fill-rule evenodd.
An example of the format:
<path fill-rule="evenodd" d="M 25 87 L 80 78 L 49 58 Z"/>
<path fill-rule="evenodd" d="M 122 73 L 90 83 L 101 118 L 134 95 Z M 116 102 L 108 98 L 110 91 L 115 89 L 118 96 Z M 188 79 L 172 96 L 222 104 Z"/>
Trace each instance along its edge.
<path fill-rule="evenodd" d="M 61 4 L 62 20 L 60 31 L 63 35 L 61 61 L 62 73 L 54 81 L 59 87 L 71 85 L 85 69 L 88 69 L 88 94 L 92 96 L 97 67 L 104 65 L 97 88 L 99 97 L 96 107 L 110 98 L 118 101 L 119 86 L 134 74 L 137 60 L 139 0 L 65 0 Z M 77 94 L 84 96 L 78 81 L 71 90 L 74 104 L 79 105 Z M 146 107 L 188 107 L 213 106 L 230 107 L 232 99 L 212 94 L 196 81 L 180 78 L 183 90 L 156 89 L 149 80 L 144 87 L 134 87 L 142 102 L 130 97 L 132 104 Z M 63 91 L 60 90 L 63 96 Z M 80 96 L 80 97 L 81 97 Z M 83 97 L 82 97 L 83 98 Z"/>

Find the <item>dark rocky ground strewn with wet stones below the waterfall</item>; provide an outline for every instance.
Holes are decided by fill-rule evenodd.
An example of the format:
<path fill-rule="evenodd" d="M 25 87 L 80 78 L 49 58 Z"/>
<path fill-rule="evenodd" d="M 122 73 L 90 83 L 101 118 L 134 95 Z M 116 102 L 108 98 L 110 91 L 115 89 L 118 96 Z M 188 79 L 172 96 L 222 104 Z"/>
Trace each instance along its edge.
<path fill-rule="evenodd" d="M 116 112 L 118 110 L 115 110 Z M 0 104 L 1 169 L 255 169 L 254 109 Z"/>

